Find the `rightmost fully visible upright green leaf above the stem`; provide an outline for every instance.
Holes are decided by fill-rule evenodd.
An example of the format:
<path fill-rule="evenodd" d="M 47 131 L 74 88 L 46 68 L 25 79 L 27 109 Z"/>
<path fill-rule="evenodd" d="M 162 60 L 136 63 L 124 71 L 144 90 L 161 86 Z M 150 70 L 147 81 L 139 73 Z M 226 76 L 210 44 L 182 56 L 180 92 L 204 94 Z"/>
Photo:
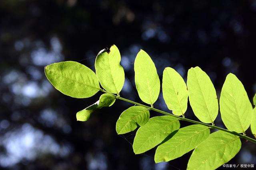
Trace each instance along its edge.
<path fill-rule="evenodd" d="M 252 104 L 244 86 L 234 74 L 228 74 L 220 94 L 222 121 L 230 131 L 243 133 L 252 120 Z"/>

